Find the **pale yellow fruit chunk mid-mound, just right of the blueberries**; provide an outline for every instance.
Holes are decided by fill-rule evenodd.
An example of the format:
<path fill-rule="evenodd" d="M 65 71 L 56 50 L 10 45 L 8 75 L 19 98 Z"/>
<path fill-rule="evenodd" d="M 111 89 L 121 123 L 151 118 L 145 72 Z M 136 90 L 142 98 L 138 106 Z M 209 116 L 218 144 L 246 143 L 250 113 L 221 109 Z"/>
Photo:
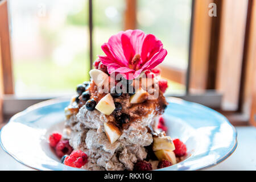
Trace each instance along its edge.
<path fill-rule="evenodd" d="M 103 114 L 110 115 L 115 110 L 114 100 L 110 93 L 101 98 L 95 108 Z"/>

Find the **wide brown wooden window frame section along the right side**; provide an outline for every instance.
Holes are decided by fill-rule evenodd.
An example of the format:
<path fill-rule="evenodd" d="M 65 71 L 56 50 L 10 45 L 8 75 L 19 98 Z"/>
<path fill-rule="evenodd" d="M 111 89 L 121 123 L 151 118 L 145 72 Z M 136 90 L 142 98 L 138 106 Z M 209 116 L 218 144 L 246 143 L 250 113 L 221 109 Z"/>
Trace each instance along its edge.
<path fill-rule="evenodd" d="M 195 0 L 195 9 L 199 1 Z M 208 24 L 210 29 L 204 27 L 207 23 L 205 21 L 209 21 L 209 18 L 208 20 L 205 18 L 204 21 L 202 16 L 196 18 L 195 14 L 194 26 L 196 26 L 195 22 L 199 20 L 201 22 L 199 27 L 204 27 L 204 30 L 208 31 L 208 33 L 202 33 L 210 35 L 210 41 L 200 44 L 200 39 L 193 35 L 193 44 L 199 42 L 197 45 L 200 46 L 192 46 L 191 54 L 197 53 L 195 49 L 207 52 L 207 49 L 210 48 L 210 51 L 208 51 L 208 59 L 205 55 L 203 55 L 204 59 L 201 59 L 200 53 L 197 54 L 196 59 L 193 59 L 192 56 L 189 90 L 193 92 L 193 90 L 215 89 L 217 92 L 223 93 L 222 106 L 217 111 L 224 114 L 233 125 L 249 125 L 250 121 L 250 124 L 255 126 L 256 96 L 254 93 L 256 93 L 256 84 L 255 81 L 253 82 L 256 78 L 255 2 L 253 0 L 214 0 L 212 2 L 216 3 L 218 13 L 217 17 L 210 18 L 211 23 Z M 236 14 L 237 11 L 240 14 Z M 233 21 L 231 24 L 233 27 L 229 27 L 230 19 Z M 193 29 L 199 34 L 200 30 L 196 28 Z M 203 66 L 201 65 L 201 69 L 198 69 L 200 64 Z M 196 65 L 195 68 L 193 65 Z M 200 81 L 197 79 L 198 77 L 204 77 L 204 79 L 197 83 Z M 230 78 L 235 79 L 233 81 Z M 233 106 L 225 105 L 230 101 L 233 102 Z"/>

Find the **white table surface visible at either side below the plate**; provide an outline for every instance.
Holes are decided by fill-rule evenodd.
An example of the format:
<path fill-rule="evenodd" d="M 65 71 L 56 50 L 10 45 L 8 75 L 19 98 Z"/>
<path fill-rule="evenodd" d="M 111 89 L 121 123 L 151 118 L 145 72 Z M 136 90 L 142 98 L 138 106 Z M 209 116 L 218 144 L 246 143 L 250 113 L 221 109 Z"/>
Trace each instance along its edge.
<path fill-rule="evenodd" d="M 256 170 L 256 128 L 236 127 L 238 146 L 224 162 L 205 170 Z M 16 162 L 0 147 L 0 170 L 32 170 Z"/>

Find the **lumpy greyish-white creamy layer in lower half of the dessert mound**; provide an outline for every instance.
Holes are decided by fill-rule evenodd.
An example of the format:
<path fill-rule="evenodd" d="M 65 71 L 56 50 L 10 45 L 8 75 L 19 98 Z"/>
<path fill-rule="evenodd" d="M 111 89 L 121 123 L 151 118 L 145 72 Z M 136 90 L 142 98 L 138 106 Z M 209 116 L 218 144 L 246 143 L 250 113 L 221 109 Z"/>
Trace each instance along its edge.
<path fill-rule="evenodd" d="M 155 127 L 158 115 L 148 114 L 140 122 L 131 123 L 116 142 L 111 144 L 104 131 L 104 122 L 114 121 L 112 116 L 97 110 L 88 111 L 82 106 L 79 113 L 72 115 L 65 123 L 65 137 L 74 150 L 88 155 L 84 168 L 89 170 L 132 170 L 137 160 L 147 156 L 144 146 L 152 143 L 152 135 L 146 126 Z"/>

